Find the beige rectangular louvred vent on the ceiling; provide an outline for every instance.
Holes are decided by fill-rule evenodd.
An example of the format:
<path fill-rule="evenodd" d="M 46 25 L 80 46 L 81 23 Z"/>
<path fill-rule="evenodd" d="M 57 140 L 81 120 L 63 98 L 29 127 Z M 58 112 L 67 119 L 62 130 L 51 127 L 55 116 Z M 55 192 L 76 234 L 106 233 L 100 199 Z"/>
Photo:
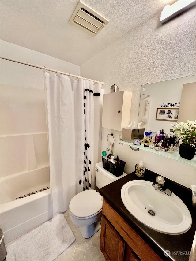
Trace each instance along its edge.
<path fill-rule="evenodd" d="M 95 36 L 109 23 L 109 20 L 85 3 L 79 1 L 71 16 L 70 23 L 80 26 L 80 28 L 91 32 Z"/>

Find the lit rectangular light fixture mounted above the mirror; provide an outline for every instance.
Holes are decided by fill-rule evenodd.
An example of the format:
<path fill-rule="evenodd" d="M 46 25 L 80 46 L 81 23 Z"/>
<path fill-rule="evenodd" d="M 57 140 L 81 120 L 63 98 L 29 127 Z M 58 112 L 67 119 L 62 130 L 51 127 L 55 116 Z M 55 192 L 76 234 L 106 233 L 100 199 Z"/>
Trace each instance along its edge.
<path fill-rule="evenodd" d="M 161 13 L 160 22 L 164 24 L 194 5 L 196 5 L 196 0 L 178 0 L 172 5 L 167 5 Z"/>

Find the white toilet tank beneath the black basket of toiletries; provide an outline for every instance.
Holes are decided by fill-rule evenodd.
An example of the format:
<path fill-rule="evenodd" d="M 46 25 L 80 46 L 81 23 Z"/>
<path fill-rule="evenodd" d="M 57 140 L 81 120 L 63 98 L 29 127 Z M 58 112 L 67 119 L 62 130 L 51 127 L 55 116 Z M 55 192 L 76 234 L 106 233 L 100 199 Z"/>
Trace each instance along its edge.
<path fill-rule="evenodd" d="M 118 180 L 119 178 L 122 178 L 126 176 L 126 174 L 123 172 L 123 175 L 120 177 L 114 176 L 109 171 L 105 170 L 103 168 L 102 162 L 95 164 L 95 173 L 96 173 L 96 186 L 97 188 L 102 188 L 106 186 L 107 184 L 110 184 L 111 182 Z"/>

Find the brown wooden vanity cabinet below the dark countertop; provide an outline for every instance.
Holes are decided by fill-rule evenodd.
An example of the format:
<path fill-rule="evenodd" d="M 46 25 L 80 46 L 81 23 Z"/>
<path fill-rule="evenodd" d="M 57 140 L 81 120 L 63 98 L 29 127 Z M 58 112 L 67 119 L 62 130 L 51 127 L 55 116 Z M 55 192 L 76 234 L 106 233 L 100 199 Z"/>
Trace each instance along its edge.
<path fill-rule="evenodd" d="M 162 261 L 105 200 L 100 249 L 107 261 Z"/>

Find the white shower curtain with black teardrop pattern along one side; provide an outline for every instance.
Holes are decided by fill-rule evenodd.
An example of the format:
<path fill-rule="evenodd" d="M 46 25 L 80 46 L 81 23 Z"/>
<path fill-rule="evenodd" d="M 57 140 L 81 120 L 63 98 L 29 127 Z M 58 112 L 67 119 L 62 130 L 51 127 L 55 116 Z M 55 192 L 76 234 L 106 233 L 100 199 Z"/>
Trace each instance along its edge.
<path fill-rule="evenodd" d="M 94 188 L 101 84 L 44 70 L 53 216 Z M 96 135 L 95 135 L 96 133 Z"/>

